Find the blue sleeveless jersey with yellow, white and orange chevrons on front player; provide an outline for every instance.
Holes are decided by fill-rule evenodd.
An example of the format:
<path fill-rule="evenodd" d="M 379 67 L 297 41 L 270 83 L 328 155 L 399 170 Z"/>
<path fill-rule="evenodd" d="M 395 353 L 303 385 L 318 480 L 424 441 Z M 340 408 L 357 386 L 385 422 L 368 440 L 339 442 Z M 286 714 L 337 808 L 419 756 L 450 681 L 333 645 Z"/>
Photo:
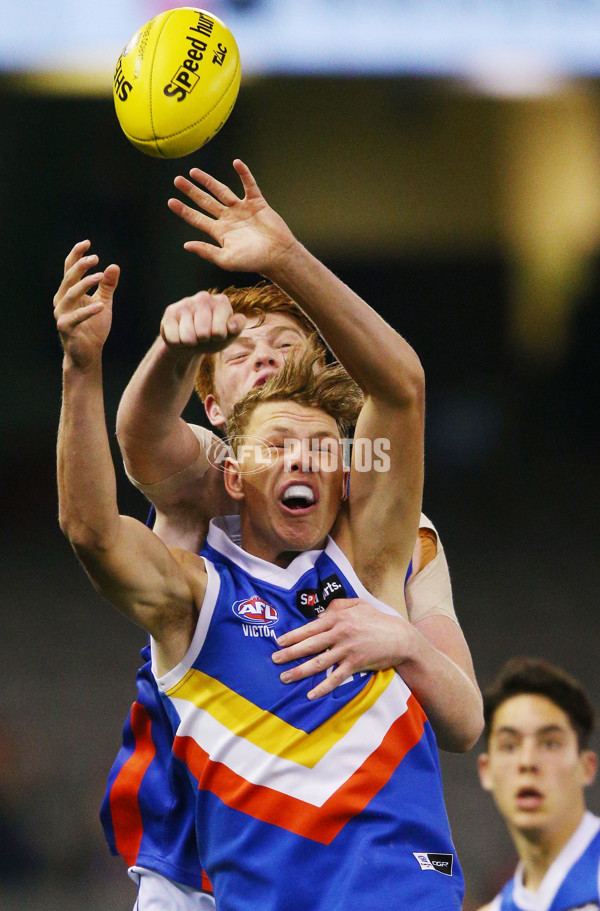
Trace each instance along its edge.
<path fill-rule="evenodd" d="M 241 550 L 238 529 L 211 523 L 192 644 L 158 681 L 219 911 L 458 911 L 435 738 L 400 676 L 356 674 L 311 701 L 322 675 L 285 685 L 271 660 L 333 598 L 394 612 L 332 540 L 284 569 Z"/>

